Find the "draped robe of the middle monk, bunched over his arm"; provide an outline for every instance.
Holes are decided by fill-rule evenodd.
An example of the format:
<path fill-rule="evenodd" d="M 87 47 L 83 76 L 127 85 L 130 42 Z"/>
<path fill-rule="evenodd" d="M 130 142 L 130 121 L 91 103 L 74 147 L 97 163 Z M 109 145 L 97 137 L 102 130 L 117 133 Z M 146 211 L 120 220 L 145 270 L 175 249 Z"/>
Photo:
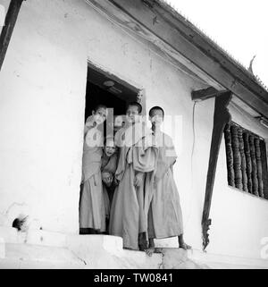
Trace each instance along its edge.
<path fill-rule="evenodd" d="M 120 131 L 120 136 L 123 134 L 124 131 Z M 144 182 L 135 188 L 134 179 L 136 173 L 153 174 L 155 171 L 157 149 L 150 144 L 150 137 L 152 132 L 147 131 L 134 138 L 132 146 L 130 141 L 121 145 L 115 173 L 119 185 L 113 196 L 109 232 L 121 236 L 124 248 L 128 249 L 138 249 L 138 233 L 147 232 Z"/>

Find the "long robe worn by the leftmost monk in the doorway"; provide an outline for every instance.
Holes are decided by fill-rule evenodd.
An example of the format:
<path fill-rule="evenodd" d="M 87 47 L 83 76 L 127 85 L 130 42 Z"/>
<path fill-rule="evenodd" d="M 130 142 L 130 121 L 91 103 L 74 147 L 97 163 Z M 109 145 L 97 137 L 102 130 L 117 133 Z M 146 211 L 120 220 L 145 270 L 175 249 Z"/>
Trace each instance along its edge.
<path fill-rule="evenodd" d="M 101 176 L 103 148 L 90 137 L 102 138 L 101 131 L 87 131 L 82 158 L 82 189 L 80 194 L 80 228 L 92 228 L 105 232 L 105 200 Z M 88 137 L 88 138 L 87 138 Z M 88 140 L 87 140 L 88 139 Z"/>

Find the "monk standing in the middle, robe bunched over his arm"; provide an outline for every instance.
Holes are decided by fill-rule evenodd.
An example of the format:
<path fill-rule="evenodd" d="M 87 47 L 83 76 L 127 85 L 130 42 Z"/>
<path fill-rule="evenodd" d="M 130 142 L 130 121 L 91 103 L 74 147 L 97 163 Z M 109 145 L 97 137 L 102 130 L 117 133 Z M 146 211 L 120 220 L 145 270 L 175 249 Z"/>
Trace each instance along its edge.
<path fill-rule="evenodd" d="M 141 122 L 142 107 L 130 103 L 126 122 L 115 134 L 120 148 L 111 207 L 109 233 L 121 236 L 125 249 L 147 249 L 147 218 L 144 209 L 145 176 L 152 177 L 157 149 L 152 147 L 152 131 Z"/>

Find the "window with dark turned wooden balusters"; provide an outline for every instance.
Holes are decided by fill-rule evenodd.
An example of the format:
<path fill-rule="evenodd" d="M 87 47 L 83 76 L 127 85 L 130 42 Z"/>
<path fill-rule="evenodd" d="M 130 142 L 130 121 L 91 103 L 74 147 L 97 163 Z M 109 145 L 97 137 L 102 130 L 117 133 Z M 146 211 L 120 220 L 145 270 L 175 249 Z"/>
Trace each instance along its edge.
<path fill-rule="evenodd" d="M 264 139 L 230 122 L 224 129 L 228 183 L 268 199 L 267 155 Z"/>

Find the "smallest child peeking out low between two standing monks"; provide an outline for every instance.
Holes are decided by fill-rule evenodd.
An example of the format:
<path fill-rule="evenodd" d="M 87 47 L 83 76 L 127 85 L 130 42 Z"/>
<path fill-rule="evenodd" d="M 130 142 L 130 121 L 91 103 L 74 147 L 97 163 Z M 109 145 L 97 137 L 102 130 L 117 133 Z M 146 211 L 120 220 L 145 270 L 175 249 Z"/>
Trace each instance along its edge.
<path fill-rule="evenodd" d="M 117 167 L 117 148 L 114 145 L 113 137 L 105 139 L 104 154 L 102 157 L 102 181 L 105 198 L 106 223 L 110 217 L 110 207 L 113 200 L 113 191 L 115 189 L 114 173 Z"/>

